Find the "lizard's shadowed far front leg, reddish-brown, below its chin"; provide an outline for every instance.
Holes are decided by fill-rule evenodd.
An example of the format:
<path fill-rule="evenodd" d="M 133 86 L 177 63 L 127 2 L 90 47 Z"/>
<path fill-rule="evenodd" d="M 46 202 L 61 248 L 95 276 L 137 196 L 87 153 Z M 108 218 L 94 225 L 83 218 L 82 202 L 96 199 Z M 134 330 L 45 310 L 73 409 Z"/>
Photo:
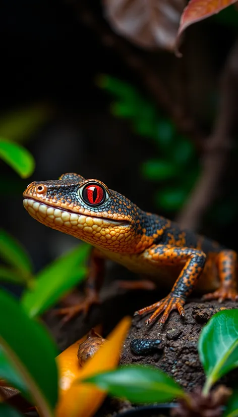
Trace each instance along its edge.
<path fill-rule="evenodd" d="M 89 274 L 85 283 L 85 298 L 81 303 L 65 308 L 59 308 L 57 314 L 63 315 L 66 323 L 81 311 L 85 316 L 93 304 L 99 303 L 99 291 L 104 277 L 105 258 L 96 248 L 93 248 L 89 258 Z"/>

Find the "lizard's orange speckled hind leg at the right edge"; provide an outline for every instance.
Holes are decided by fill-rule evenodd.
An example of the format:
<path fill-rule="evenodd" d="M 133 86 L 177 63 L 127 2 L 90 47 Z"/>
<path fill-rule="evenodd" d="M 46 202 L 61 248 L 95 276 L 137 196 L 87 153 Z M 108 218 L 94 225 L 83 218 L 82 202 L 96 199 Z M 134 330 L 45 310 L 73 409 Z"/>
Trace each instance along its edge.
<path fill-rule="evenodd" d="M 203 296 L 204 300 L 238 300 L 236 288 L 236 262 L 237 254 L 234 250 L 226 249 L 219 252 L 217 256 L 218 276 L 220 279 L 219 288 Z"/>

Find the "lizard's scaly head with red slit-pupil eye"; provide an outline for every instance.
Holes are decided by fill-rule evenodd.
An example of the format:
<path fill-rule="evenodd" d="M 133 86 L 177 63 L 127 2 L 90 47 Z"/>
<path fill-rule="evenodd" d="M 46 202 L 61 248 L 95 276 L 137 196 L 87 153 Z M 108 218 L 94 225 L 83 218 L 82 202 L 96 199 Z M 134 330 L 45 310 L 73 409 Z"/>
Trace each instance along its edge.
<path fill-rule="evenodd" d="M 59 180 L 32 182 L 23 196 L 28 213 L 52 229 L 105 250 L 123 252 L 132 240 L 136 244 L 139 209 L 101 181 L 68 173 Z"/>

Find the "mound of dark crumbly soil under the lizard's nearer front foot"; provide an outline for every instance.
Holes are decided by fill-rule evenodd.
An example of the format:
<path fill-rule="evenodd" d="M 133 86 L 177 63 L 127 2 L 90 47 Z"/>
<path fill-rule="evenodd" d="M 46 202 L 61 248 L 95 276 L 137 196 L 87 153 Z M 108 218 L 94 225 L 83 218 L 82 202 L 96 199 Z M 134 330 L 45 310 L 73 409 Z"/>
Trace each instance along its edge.
<path fill-rule="evenodd" d="M 205 381 L 197 349 L 200 331 L 215 312 L 237 307 L 237 303 L 231 301 L 220 304 L 217 301 L 194 300 L 185 306 L 184 319 L 173 311 L 163 326 L 155 323 L 149 328 L 145 326 L 145 319 L 149 315 L 135 316 L 124 346 L 121 364 L 142 363 L 160 368 L 191 391 Z M 131 351 L 130 343 L 138 338 L 161 339 L 158 351 L 146 356 L 135 355 Z"/>

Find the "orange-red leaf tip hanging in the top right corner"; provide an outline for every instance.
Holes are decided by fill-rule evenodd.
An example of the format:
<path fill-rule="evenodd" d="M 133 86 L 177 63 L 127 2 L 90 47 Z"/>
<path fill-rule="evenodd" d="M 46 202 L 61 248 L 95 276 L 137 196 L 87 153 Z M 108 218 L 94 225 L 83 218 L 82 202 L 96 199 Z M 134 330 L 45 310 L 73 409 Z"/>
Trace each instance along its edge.
<path fill-rule="evenodd" d="M 219 13 L 222 9 L 225 9 L 236 1 L 237 0 L 190 0 L 181 16 L 176 45 L 180 40 L 182 32 L 184 32 L 188 26 L 206 19 L 215 13 Z"/>

